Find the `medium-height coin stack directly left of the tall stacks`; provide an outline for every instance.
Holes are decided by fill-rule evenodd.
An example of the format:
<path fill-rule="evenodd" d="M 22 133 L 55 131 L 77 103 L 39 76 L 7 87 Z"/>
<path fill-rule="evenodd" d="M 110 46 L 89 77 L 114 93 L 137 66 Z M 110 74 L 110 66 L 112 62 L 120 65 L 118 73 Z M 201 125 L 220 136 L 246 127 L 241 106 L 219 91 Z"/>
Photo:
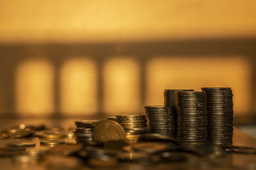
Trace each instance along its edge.
<path fill-rule="evenodd" d="M 167 106 L 145 106 L 149 132 L 175 136 L 175 117 L 172 108 Z"/>

